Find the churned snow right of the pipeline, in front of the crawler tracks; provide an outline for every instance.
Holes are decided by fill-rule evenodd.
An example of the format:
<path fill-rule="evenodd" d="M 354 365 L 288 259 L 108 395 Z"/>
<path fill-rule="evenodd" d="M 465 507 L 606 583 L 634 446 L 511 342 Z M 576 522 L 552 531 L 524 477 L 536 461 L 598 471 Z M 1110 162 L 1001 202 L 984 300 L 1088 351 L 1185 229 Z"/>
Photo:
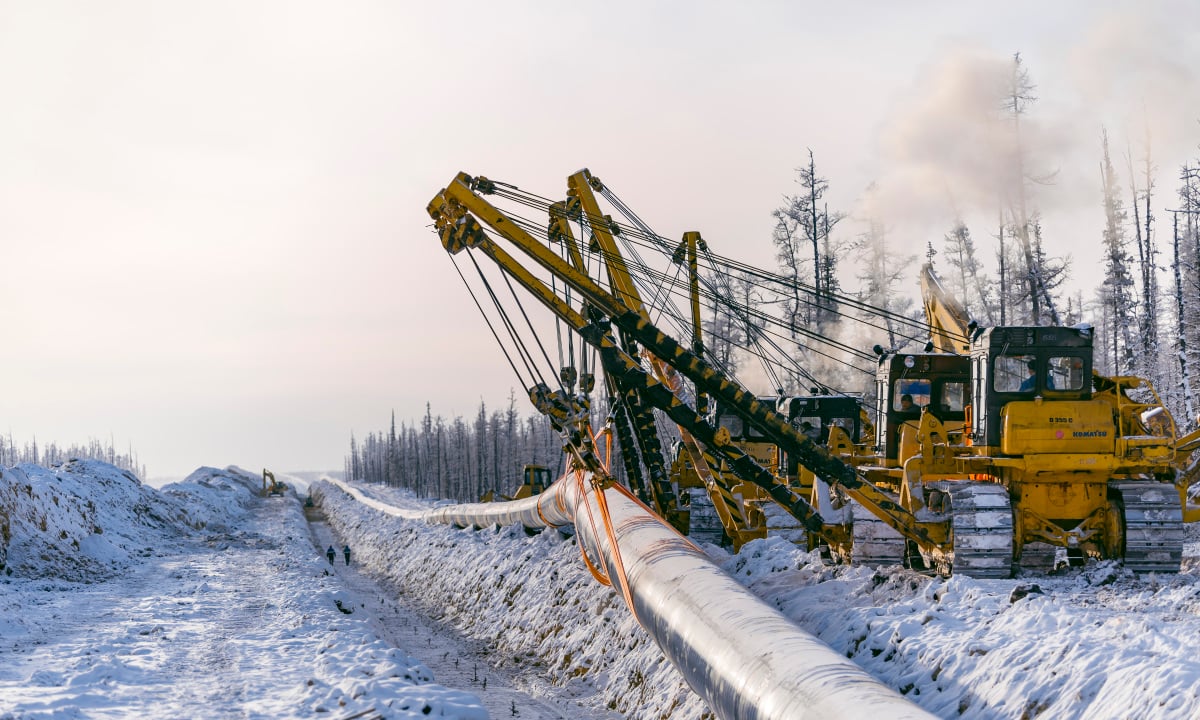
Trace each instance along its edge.
<path fill-rule="evenodd" d="M 828 566 L 768 538 L 725 569 L 941 718 L 1200 716 L 1195 558 L 1176 576 L 1104 562 L 1054 576 L 940 578 Z"/>

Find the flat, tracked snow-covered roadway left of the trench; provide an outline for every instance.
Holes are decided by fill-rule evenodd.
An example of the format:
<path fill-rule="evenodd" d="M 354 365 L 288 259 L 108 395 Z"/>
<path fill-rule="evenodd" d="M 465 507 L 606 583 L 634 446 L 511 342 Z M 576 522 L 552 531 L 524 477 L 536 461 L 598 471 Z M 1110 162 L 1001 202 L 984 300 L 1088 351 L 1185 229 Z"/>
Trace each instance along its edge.
<path fill-rule="evenodd" d="M 432 682 L 415 637 L 409 654 L 367 613 L 337 611 L 360 596 L 341 582 L 354 574 L 326 571 L 294 497 L 197 492 L 228 512 L 203 534 L 104 518 L 106 536 L 134 538 L 140 556 L 114 577 L 0 576 L 0 718 L 486 716 L 469 689 Z"/>

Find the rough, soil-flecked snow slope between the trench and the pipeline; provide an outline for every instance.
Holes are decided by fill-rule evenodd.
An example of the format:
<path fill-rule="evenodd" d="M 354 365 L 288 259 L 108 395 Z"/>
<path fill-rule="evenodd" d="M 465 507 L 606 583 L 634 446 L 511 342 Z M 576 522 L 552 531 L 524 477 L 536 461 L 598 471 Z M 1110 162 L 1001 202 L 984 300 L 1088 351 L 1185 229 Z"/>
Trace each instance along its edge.
<path fill-rule="evenodd" d="M 533 666 L 564 691 L 599 694 L 599 704 L 629 718 L 707 712 L 624 601 L 588 574 L 572 539 L 520 527 L 430 526 L 380 512 L 329 482 L 311 491 L 360 564 L 486 642 L 496 665 Z"/>

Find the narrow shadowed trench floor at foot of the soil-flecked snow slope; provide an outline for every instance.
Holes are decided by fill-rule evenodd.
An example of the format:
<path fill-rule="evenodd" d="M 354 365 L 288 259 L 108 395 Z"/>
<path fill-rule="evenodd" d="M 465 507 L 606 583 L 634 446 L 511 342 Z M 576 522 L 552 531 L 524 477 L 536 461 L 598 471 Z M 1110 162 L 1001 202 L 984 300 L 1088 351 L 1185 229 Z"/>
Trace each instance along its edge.
<path fill-rule="evenodd" d="M 608 720 L 617 713 L 586 704 L 587 696 L 572 696 L 571 689 L 548 683 L 540 667 L 524 665 L 520 658 L 506 659 L 511 667 L 498 667 L 486 643 L 463 636 L 452 626 L 415 608 L 402 588 L 368 575 L 353 557 L 347 566 L 342 557 L 344 540 L 337 536 L 319 512 L 308 512 L 308 527 L 319 553 L 336 551 L 331 571 L 358 600 L 353 612 L 366 613 L 384 641 L 421 658 L 440 685 L 474 692 L 493 719 Z"/>

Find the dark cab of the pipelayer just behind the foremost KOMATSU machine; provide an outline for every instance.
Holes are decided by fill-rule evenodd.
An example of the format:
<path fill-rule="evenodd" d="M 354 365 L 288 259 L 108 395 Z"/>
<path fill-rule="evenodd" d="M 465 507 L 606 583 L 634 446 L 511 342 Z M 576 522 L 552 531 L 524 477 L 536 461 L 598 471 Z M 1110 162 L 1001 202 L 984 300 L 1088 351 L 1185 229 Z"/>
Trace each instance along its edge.
<path fill-rule="evenodd" d="M 925 408 L 950 430 L 961 427 L 970 386 L 971 358 L 966 355 L 881 355 L 875 373 L 875 445 L 886 464 L 899 463 L 901 455 L 907 455 L 901 452 L 901 445 L 916 443 Z"/>

